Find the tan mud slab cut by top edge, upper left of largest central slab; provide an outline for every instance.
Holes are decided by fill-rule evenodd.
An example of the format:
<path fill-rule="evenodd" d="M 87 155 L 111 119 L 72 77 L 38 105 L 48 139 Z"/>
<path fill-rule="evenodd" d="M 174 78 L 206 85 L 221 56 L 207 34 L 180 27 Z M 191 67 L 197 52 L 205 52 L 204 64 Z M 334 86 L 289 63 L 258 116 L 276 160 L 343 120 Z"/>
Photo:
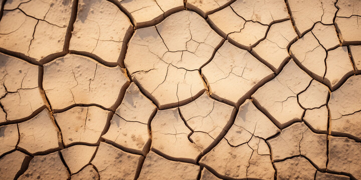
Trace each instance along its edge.
<path fill-rule="evenodd" d="M 131 30 L 130 20 L 115 4 L 80 0 L 69 49 L 95 54 L 107 62 L 119 62 L 125 54 L 124 40 Z"/>

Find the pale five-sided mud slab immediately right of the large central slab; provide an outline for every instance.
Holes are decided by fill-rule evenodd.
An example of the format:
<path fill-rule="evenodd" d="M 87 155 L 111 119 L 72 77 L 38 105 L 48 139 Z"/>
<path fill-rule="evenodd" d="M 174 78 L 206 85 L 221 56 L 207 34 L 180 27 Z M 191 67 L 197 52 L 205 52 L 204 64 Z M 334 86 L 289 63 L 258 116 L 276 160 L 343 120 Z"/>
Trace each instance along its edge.
<path fill-rule="evenodd" d="M 227 63 L 226 63 L 227 62 Z M 215 71 L 214 69 L 219 69 Z M 272 77 L 272 70 L 248 51 L 226 41 L 210 63 L 202 68 L 212 96 L 236 106 L 259 84 Z M 237 88 L 238 90 L 233 90 Z"/>

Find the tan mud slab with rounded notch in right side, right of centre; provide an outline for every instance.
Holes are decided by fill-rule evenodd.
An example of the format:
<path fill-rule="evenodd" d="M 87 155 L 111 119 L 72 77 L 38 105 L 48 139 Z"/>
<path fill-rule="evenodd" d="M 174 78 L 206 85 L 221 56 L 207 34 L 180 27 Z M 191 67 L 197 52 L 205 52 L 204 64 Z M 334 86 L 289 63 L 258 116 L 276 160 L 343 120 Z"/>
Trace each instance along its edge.
<path fill-rule="evenodd" d="M 300 120 L 304 109 L 298 104 L 297 94 L 308 87 L 311 77 L 291 59 L 274 79 L 260 87 L 252 97 L 284 127 Z"/>

